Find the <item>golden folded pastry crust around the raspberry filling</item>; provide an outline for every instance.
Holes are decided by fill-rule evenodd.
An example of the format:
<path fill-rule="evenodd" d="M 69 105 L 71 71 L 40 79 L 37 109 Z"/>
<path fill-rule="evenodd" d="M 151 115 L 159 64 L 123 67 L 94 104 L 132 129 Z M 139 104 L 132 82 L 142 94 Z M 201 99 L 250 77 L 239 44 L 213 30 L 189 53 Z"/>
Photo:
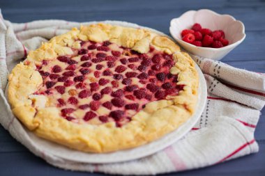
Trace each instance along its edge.
<path fill-rule="evenodd" d="M 114 122 L 102 125 L 70 122 L 61 118 L 56 106 L 49 106 L 45 95 L 34 95 L 43 86 L 43 78 L 36 71 L 36 65 L 43 60 L 52 61 L 57 56 L 73 54 L 73 49 L 81 47 L 80 40 L 109 40 L 141 54 L 149 52 L 150 46 L 173 54 L 175 64 L 170 73 L 177 74 L 177 84 L 185 86 L 179 95 L 149 102 L 122 127 L 116 127 Z M 81 26 L 52 38 L 35 51 L 30 51 L 27 59 L 14 67 L 8 80 L 8 100 L 13 113 L 29 130 L 41 138 L 84 152 L 112 152 L 154 141 L 188 120 L 197 104 L 198 75 L 188 54 L 169 38 L 146 29 L 110 24 Z"/>

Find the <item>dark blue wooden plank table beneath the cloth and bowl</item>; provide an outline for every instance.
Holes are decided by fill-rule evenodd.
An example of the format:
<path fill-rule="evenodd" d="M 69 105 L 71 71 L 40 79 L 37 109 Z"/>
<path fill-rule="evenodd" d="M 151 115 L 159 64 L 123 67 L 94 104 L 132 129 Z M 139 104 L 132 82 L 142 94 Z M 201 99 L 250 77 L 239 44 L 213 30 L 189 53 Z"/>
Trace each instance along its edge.
<path fill-rule="evenodd" d="M 265 72 L 265 1 L 8 1 L 0 0 L 5 19 L 29 22 L 36 19 L 66 19 L 76 22 L 115 19 L 149 26 L 169 33 L 169 21 L 187 10 L 209 8 L 229 14 L 245 24 L 245 41 L 222 59 L 234 67 Z M 168 175 L 265 175 L 265 109 L 255 131 L 259 152 L 217 166 Z M 35 157 L 0 127 L 0 175 L 103 175 L 54 168 Z"/>

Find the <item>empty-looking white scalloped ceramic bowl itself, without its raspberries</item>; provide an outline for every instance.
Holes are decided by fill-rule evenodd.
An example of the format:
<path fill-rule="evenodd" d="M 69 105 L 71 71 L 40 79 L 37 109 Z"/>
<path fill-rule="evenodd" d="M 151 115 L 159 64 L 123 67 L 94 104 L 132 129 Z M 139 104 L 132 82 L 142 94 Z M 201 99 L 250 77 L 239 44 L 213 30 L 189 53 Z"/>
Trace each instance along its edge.
<path fill-rule="evenodd" d="M 225 38 L 229 40 L 229 45 L 222 48 L 196 47 L 181 40 L 181 31 L 183 29 L 191 29 L 195 23 L 199 23 L 202 25 L 202 28 L 208 28 L 212 31 L 222 29 L 225 32 Z M 169 31 L 172 37 L 186 51 L 217 61 L 227 55 L 229 51 L 232 51 L 232 49 L 245 39 L 245 26 L 242 22 L 234 19 L 230 15 L 220 15 L 207 9 L 190 10 L 183 13 L 181 17 L 172 19 Z"/>

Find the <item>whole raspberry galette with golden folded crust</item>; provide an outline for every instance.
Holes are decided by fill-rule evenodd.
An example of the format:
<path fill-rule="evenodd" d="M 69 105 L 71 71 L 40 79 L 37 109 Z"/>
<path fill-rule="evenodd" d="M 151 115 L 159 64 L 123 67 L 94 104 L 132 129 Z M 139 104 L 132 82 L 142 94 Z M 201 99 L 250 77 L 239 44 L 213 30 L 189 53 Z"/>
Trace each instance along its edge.
<path fill-rule="evenodd" d="M 42 138 L 111 152 L 178 128 L 197 104 L 195 63 L 146 29 L 93 24 L 56 36 L 15 66 L 13 113 Z"/>

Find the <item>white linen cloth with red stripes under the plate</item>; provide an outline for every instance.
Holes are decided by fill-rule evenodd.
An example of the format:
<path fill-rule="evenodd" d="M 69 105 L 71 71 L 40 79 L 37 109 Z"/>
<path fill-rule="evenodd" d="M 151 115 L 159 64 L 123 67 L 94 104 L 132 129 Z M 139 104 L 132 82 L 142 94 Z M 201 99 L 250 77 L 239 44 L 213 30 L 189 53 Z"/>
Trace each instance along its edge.
<path fill-rule="evenodd" d="M 86 23 L 84 23 L 86 24 Z M 38 157 L 59 168 L 120 175 L 156 175 L 202 168 L 258 152 L 254 131 L 265 104 L 265 76 L 219 61 L 192 56 L 204 73 L 208 88 L 206 107 L 194 128 L 181 140 L 156 154 L 121 163 L 91 164 L 67 161 L 49 148 L 40 150 L 10 110 L 4 92 L 8 72 L 55 35 L 79 23 L 41 20 L 15 24 L 0 12 L 0 123 Z"/>

